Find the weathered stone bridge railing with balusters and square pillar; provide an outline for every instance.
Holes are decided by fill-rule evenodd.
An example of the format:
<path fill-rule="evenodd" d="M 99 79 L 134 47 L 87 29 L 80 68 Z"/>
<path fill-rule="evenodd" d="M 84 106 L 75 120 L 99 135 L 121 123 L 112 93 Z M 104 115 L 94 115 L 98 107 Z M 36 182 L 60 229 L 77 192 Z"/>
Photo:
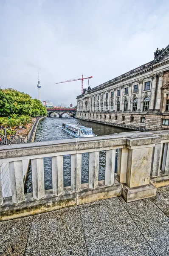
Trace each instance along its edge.
<path fill-rule="evenodd" d="M 11 145 L 10 148 L 2 146 L 0 163 L 9 162 L 12 197 L 3 198 L 0 185 L 0 219 L 31 215 L 120 195 L 127 202 L 155 196 L 156 185 L 163 186 L 168 182 L 166 176 L 160 177 L 160 166 L 164 172 L 169 172 L 168 143 L 168 131 L 136 131 L 86 139 Z M 118 172 L 115 174 L 117 149 Z M 100 151 L 106 151 L 105 180 L 102 181 L 99 181 Z M 83 153 L 89 153 L 89 182 L 85 184 L 81 181 Z M 67 187 L 63 183 L 64 155 L 71 155 L 71 186 Z M 46 191 L 44 157 L 52 159 L 52 189 Z M 33 193 L 28 194 L 24 192 L 22 166 L 22 160 L 26 159 L 31 160 L 33 186 Z"/>

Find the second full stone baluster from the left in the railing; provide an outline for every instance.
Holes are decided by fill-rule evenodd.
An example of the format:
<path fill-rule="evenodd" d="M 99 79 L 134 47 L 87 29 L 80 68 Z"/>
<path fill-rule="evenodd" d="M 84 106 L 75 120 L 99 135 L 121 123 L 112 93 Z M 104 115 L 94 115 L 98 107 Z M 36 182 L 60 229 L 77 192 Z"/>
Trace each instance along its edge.
<path fill-rule="evenodd" d="M 45 196 L 43 158 L 32 159 L 31 165 L 33 197 L 39 200 Z"/>

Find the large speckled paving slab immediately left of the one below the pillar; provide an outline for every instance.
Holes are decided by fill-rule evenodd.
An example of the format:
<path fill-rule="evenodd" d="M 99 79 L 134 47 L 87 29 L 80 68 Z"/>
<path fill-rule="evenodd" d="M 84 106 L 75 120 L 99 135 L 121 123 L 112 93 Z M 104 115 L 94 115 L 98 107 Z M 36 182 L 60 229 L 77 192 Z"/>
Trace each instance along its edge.
<path fill-rule="evenodd" d="M 118 198 L 80 206 L 89 256 L 155 255 Z"/>

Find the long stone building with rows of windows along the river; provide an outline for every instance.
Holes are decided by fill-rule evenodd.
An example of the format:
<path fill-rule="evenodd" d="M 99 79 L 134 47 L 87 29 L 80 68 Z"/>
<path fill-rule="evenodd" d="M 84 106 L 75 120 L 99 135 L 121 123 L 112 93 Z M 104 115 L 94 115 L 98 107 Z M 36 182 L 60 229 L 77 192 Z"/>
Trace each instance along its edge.
<path fill-rule="evenodd" d="M 169 45 L 153 61 L 77 96 L 77 118 L 139 130 L 169 128 Z"/>

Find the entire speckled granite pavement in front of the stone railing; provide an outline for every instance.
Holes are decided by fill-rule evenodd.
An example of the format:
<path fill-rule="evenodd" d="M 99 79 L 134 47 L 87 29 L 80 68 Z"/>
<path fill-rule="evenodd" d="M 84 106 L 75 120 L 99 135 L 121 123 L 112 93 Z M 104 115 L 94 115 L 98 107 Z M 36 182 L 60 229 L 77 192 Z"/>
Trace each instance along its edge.
<path fill-rule="evenodd" d="M 0 255 L 169 255 L 169 187 L 155 198 L 123 198 L 0 222 Z"/>

